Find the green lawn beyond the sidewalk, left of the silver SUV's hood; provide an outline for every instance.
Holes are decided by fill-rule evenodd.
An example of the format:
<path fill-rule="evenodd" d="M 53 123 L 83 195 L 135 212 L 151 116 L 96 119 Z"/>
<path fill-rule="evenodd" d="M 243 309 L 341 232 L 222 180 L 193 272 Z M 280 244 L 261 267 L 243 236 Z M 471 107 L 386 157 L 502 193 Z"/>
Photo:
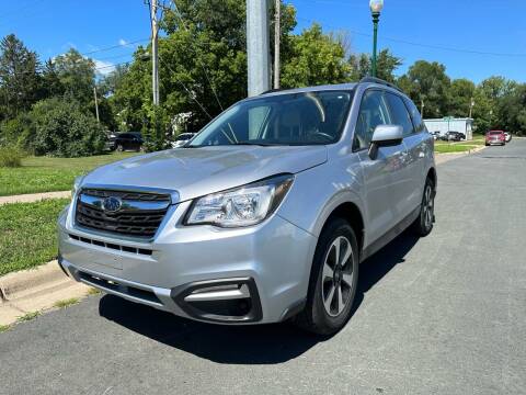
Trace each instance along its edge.
<path fill-rule="evenodd" d="M 137 155 L 114 153 L 85 158 L 27 157 L 20 168 L 0 168 L 0 196 L 70 190 L 77 176 Z"/>

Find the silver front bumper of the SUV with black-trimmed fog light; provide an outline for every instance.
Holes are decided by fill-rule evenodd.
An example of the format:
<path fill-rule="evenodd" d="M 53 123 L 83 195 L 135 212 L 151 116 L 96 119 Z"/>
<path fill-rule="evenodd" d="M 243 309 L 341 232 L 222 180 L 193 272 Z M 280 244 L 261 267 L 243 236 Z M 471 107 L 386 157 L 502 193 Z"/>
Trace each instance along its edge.
<path fill-rule="evenodd" d="M 173 206 L 149 242 L 80 229 L 71 207 L 59 218 L 60 264 L 77 281 L 198 320 L 275 323 L 301 306 L 312 235 L 277 214 L 247 228 L 182 226 L 188 205 Z"/>

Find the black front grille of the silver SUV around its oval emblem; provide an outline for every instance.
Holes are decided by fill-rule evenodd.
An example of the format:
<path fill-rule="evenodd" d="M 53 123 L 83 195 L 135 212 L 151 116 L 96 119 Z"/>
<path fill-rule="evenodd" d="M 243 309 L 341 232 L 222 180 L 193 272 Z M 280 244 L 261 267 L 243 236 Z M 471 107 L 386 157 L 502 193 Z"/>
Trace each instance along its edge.
<path fill-rule="evenodd" d="M 121 208 L 108 212 L 103 202 L 116 198 Z M 156 235 L 171 200 L 169 194 L 84 189 L 77 200 L 78 225 L 113 234 L 151 238 Z"/>

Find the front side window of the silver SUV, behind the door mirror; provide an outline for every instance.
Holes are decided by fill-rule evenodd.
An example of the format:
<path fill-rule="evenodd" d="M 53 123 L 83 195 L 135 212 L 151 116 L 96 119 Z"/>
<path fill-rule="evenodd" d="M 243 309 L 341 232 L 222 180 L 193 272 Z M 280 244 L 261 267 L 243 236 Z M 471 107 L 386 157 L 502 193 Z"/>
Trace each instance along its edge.
<path fill-rule="evenodd" d="M 389 125 L 390 123 L 384 92 L 379 90 L 366 91 L 362 98 L 354 129 L 353 149 L 368 148 L 376 126 Z"/>

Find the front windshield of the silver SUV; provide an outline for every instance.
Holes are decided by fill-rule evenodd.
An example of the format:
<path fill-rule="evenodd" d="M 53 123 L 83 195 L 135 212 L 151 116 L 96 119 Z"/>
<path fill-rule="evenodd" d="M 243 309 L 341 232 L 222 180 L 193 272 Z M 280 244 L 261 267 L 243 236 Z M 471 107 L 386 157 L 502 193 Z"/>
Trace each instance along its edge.
<path fill-rule="evenodd" d="M 353 91 L 319 91 L 240 102 L 188 145 L 316 145 L 340 139 Z"/>

